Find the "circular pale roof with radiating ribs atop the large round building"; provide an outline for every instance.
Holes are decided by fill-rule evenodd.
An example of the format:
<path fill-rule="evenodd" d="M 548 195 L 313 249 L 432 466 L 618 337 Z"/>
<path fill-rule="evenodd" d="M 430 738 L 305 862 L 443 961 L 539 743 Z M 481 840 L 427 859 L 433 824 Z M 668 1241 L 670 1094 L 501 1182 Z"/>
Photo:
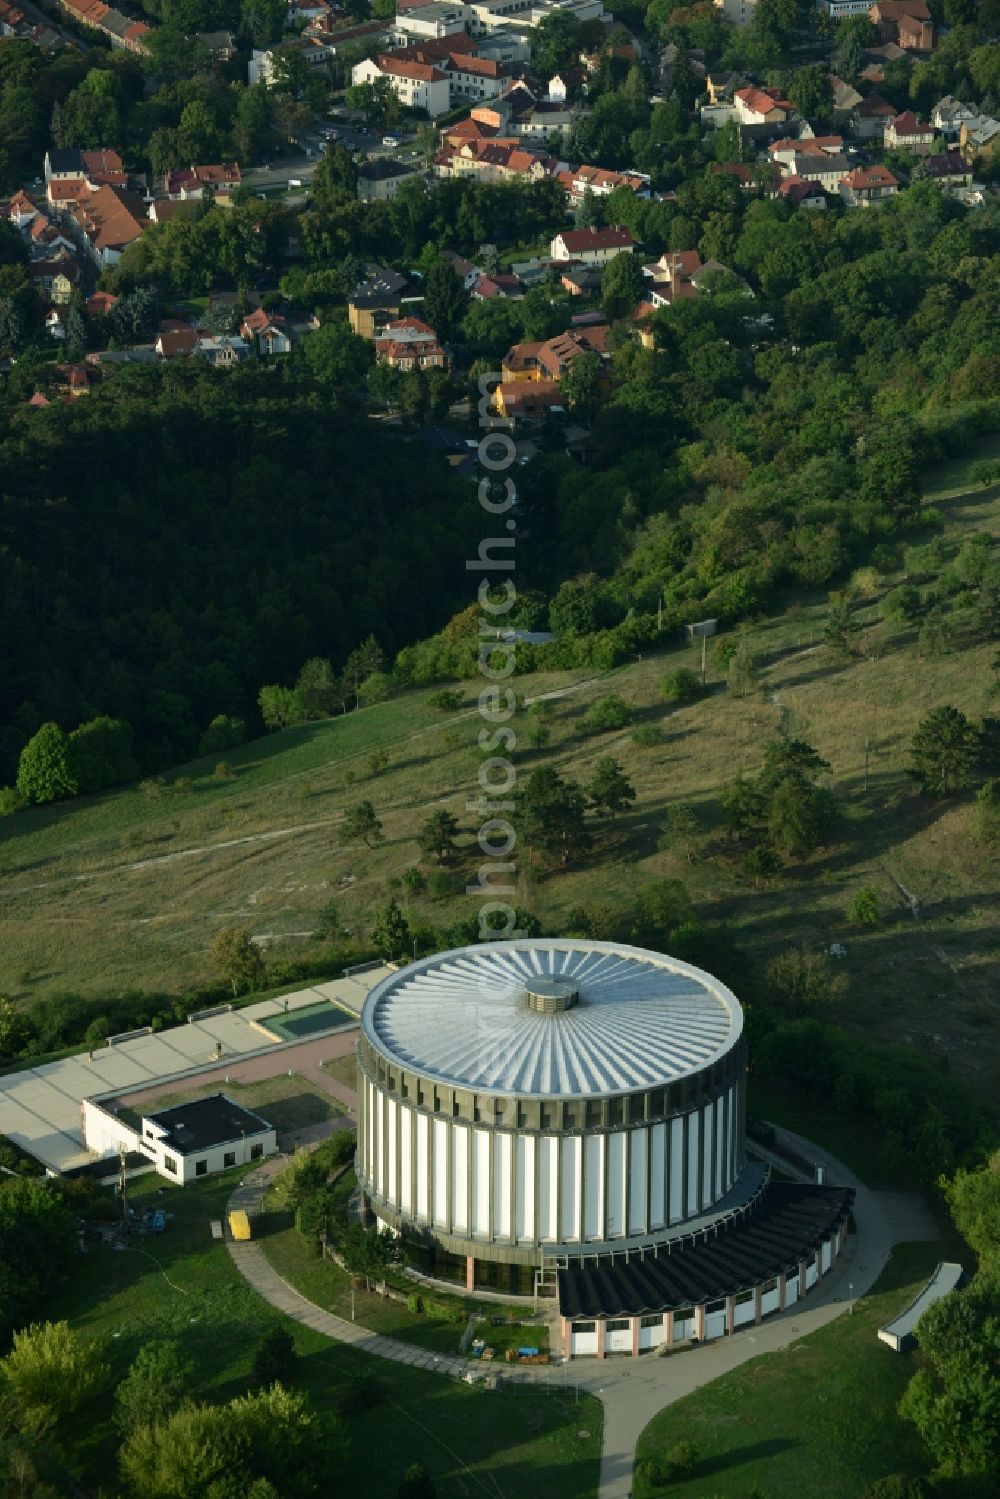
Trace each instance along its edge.
<path fill-rule="evenodd" d="M 538 979 L 549 982 L 532 998 Z M 543 1009 L 555 991 L 568 1003 Z M 424 958 L 378 983 L 361 1012 L 364 1034 L 397 1066 L 535 1097 L 658 1087 L 715 1061 L 742 1024 L 729 989 L 691 964 L 558 938 Z"/>

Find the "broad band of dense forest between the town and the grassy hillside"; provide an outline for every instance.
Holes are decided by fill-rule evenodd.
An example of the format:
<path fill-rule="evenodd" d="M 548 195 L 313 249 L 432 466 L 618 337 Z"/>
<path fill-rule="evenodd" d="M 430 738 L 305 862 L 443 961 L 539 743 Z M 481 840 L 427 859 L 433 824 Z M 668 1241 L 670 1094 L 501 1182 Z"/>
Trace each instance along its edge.
<path fill-rule="evenodd" d="M 469 196 L 496 213 L 505 195 Z M 555 424 L 519 471 L 519 622 L 559 634 L 523 666 L 612 664 L 888 567 L 930 540 L 921 472 L 1000 423 L 996 205 L 918 181 L 879 214 L 795 214 L 706 169 L 648 226 L 664 205 L 625 196 L 610 211 L 648 253 L 696 246 L 729 270 L 652 316 L 652 348 L 615 324 L 610 391 L 573 391 L 586 465 Z M 555 331 L 568 307 L 549 295 L 456 309 L 474 373 L 540 313 Z M 40 723 L 93 714 L 133 726 L 142 766 L 183 758 L 262 684 L 316 655 L 340 672 L 369 636 L 400 684 L 469 672 L 474 622 L 435 631 L 469 603 L 478 507 L 361 415 L 367 358 L 334 321 L 280 370 L 123 370 L 42 411 L 30 361 L 7 381 L 4 781 Z"/>

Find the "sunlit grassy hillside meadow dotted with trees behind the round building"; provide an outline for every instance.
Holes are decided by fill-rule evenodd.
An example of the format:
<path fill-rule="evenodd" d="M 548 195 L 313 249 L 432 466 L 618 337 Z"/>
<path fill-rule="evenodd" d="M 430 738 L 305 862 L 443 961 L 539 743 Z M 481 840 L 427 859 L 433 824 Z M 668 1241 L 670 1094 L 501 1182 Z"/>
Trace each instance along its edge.
<path fill-rule="evenodd" d="M 1000 487 L 969 490 L 969 462 L 931 475 L 928 498 L 945 516 L 948 555 L 975 531 L 1000 528 Z M 1000 863 L 975 842 L 969 797 L 918 796 L 907 763 L 910 738 L 930 709 L 952 703 L 973 718 L 996 711 L 996 643 L 922 657 L 913 627 L 879 622 L 877 597 L 856 609 L 877 636 L 876 658 L 844 658 L 822 643 L 828 604 L 820 594 L 753 625 L 760 688 L 747 699 L 727 690 L 709 654 L 705 694 L 691 705 L 667 703 L 664 672 L 699 660 L 684 643 L 600 676 L 519 679 L 528 700 L 559 694 L 550 744 L 519 748 L 519 773 L 549 763 L 586 782 L 598 758 L 612 754 L 633 778 L 637 802 L 615 826 L 592 820 L 595 847 L 568 872 L 546 872 L 523 853 L 517 901 L 544 929 L 559 931 L 574 907 L 633 902 L 646 881 L 678 877 L 699 916 L 726 923 L 754 965 L 790 944 L 843 941 L 850 983 L 834 1018 L 928 1052 L 988 1094 L 1000 1064 Z M 418 860 L 417 832 L 438 806 L 466 830 L 454 881 L 460 892 L 478 862 L 466 811 L 481 761 L 477 691 L 478 684 L 466 684 L 463 708 L 445 717 L 423 690 L 270 735 L 228 752 L 232 781 L 216 779 L 213 761 L 202 760 L 175 772 L 190 778 L 190 790 L 168 785 L 150 800 L 126 788 L 6 818 L 0 992 L 30 1003 L 73 989 L 91 994 L 97 1012 L 106 992 L 196 988 L 208 980 L 213 935 L 232 925 L 265 938 L 271 962 L 321 958 L 321 911 L 331 901 L 342 929 L 363 941 L 373 910 Z M 628 730 L 588 733 L 589 706 L 609 693 L 634 706 L 637 723 L 658 724 L 663 741 L 642 748 Z M 829 760 L 843 817 L 831 847 L 754 889 L 726 845 L 717 794 L 736 770 L 753 772 L 763 742 L 781 730 Z M 388 764 L 372 773 L 367 758 L 379 751 Z M 361 799 L 384 823 L 385 841 L 375 850 L 339 844 L 343 812 Z M 690 803 L 700 823 L 694 860 L 657 851 L 664 814 L 678 802 Z M 883 907 L 882 922 L 864 931 L 846 917 L 862 884 L 877 889 Z M 909 896 L 919 902 L 919 920 Z M 462 893 L 400 899 L 414 926 L 445 928 L 475 910 Z"/>

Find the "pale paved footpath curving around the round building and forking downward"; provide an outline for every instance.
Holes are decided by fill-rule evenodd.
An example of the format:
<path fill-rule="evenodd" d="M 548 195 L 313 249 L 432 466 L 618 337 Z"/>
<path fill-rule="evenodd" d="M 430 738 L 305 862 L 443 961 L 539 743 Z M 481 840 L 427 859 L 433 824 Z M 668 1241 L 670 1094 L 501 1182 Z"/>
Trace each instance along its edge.
<path fill-rule="evenodd" d="M 849 1300 L 862 1297 L 879 1279 L 895 1243 L 915 1237 L 913 1202 L 903 1193 L 877 1193 L 862 1186 L 847 1166 L 810 1141 L 778 1130 L 778 1144 L 826 1166 L 826 1180 L 856 1189 L 856 1235 L 835 1261 L 831 1273 L 810 1292 L 808 1298 L 787 1312 L 769 1316 L 760 1327 L 745 1328 L 732 1337 L 717 1339 L 702 1348 L 670 1358 L 574 1360 L 537 1369 L 502 1369 L 505 1379 L 553 1387 L 579 1387 L 597 1396 L 604 1405 L 604 1447 L 601 1454 L 600 1499 L 627 1499 L 631 1495 L 636 1442 L 652 1418 L 718 1379 L 739 1364 L 762 1354 L 781 1352 L 790 1343 L 841 1316 Z M 229 1199 L 229 1210 L 259 1211 L 270 1178 L 282 1169 L 283 1160 L 268 1160 L 243 1178 Z M 789 1171 L 787 1166 L 784 1166 Z M 918 1199 L 919 1201 L 919 1199 Z M 919 1223 L 919 1214 L 916 1217 Z M 928 1237 L 921 1234 L 921 1237 Z M 228 1241 L 229 1253 L 253 1289 L 279 1312 L 310 1327 L 325 1337 L 348 1343 L 376 1358 L 390 1358 L 430 1373 L 462 1378 L 469 1373 L 468 1360 L 442 1358 L 403 1343 L 394 1337 L 370 1333 L 355 1322 L 324 1312 L 307 1301 L 283 1280 L 264 1256 L 258 1243 Z"/>

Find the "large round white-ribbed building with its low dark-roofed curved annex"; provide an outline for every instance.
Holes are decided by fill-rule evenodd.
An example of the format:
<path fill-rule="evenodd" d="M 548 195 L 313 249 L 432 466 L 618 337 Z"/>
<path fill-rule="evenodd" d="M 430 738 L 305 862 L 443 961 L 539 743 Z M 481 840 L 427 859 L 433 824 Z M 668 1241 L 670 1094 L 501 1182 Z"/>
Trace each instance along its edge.
<path fill-rule="evenodd" d="M 364 1003 L 358 1180 L 427 1274 L 558 1291 L 567 1352 L 718 1336 L 805 1294 L 850 1211 L 747 1163 L 745 1072 L 738 1000 L 676 958 L 438 953 Z"/>

